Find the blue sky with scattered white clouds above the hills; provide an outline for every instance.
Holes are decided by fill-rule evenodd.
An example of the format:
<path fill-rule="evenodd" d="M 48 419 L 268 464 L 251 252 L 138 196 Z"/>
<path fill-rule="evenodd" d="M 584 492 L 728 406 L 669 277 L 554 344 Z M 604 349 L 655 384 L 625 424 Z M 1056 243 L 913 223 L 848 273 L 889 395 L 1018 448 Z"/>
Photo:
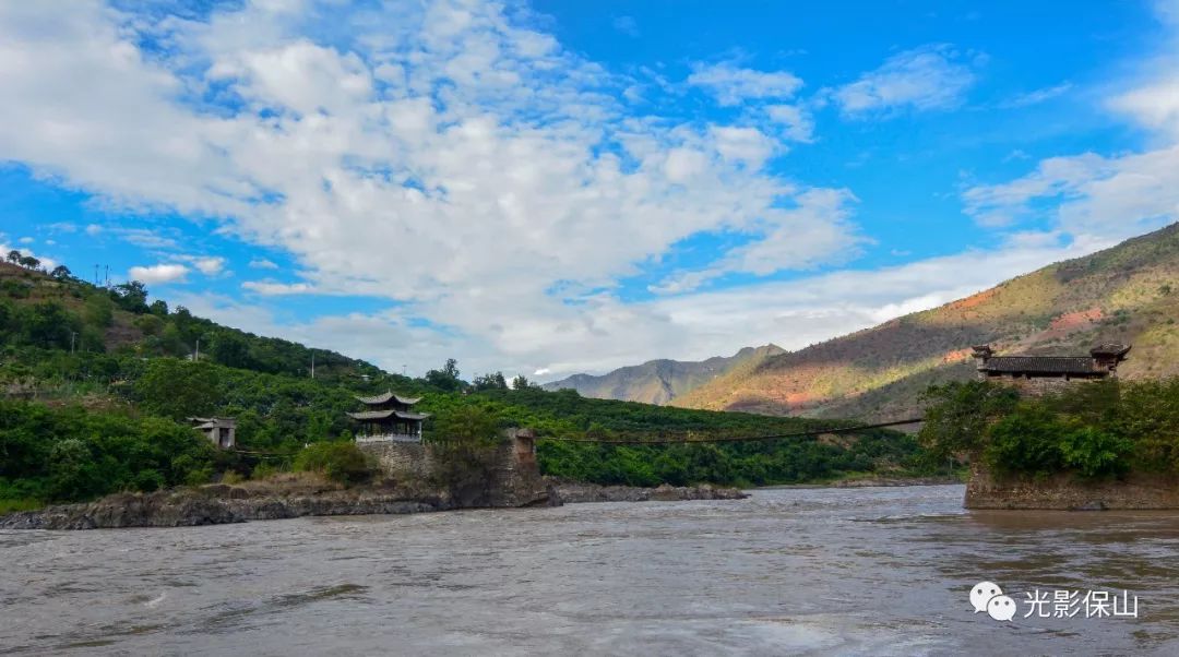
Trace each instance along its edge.
<path fill-rule="evenodd" d="M 1179 1 L 797 5 L 0 2 L 0 247 L 549 380 L 804 347 L 1177 219 Z"/>

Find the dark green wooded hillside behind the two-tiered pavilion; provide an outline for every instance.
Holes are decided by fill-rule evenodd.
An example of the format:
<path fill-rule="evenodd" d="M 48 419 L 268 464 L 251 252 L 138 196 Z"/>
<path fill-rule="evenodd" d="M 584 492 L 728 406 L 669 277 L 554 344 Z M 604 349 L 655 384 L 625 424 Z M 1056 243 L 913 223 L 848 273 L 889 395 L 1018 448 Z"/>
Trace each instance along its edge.
<path fill-rule="evenodd" d="M 539 433 L 545 473 L 599 484 L 788 484 L 918 466 L 914 440 L 883 431 L 731 445 L 545 440 L 764 435 L 831 422 L 584 399 L 523 377 L 513 389 L 500 373 L 468 383 L 453 360 L 410 379 L 315 349 L 311 379 L 311 357 L 304 346 L 150 301 L 140 283 L 106 289 L 65 268 L 0 264 L 0 510 L 292 468 L 358 482 L 369 465 L 344 413 L 355 395 L 387 389 L 424 396 L 419 408 L 434 415 L 427 439 L 454 452 L 459 488 L 473 485 L 472 464 L 511 426 Z M 237 419 L 238 452 L 215 451 L 189 426 L 204 415 Z"/>

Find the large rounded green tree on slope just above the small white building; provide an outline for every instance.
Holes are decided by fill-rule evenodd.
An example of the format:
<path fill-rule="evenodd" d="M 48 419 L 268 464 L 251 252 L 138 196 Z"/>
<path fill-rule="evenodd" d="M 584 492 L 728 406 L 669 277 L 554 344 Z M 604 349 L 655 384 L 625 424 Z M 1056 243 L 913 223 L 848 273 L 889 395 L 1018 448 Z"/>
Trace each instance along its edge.
<path fill-rule="evenodd" d="M 134 392 L 149 413 L 183 420 L 213 412 L 220 400 L 220 380 L 205 362 L 156 359 L 136 381 Z"/>

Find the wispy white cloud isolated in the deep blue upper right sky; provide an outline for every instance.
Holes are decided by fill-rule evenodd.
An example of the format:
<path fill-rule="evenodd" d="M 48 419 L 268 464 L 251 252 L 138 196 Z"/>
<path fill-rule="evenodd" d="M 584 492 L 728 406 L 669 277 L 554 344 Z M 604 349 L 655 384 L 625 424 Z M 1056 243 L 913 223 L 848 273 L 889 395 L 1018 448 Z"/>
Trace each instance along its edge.
<path fill-rule="evenodd" d="M 900 52 L 880 68 L 838 87 L 831 98 L 849 117 L 888 114 L 904 109 L 947 110 L 962 104 L 975 74 L 963 54 L 946 45 Z"/>

